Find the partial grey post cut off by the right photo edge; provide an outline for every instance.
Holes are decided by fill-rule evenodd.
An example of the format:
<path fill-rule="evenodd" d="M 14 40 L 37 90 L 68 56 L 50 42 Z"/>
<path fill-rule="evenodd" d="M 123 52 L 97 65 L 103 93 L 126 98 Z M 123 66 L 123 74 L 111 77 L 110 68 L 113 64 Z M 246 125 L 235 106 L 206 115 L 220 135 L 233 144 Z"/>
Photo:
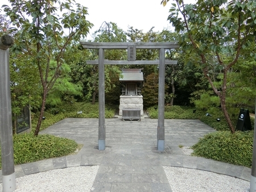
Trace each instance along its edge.
<path fill-rule="evenodd" d="M 253 137 L 253 164 L 251 166 L 250 192 L 256 191 L 256 101 Z"/>

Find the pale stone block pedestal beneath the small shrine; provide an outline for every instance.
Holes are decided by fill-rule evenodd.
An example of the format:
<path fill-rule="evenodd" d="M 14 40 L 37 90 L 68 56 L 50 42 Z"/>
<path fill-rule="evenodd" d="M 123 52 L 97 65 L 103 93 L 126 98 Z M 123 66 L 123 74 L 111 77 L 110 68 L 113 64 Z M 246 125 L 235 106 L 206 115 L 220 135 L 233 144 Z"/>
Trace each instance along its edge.
<path fill-rule="evenodd" d="M 119 116 L 122 116 L 123 108 L 139 108 L 143 116 L 143 97 L 142 95 L 121 95 L 119 105 Z"/>

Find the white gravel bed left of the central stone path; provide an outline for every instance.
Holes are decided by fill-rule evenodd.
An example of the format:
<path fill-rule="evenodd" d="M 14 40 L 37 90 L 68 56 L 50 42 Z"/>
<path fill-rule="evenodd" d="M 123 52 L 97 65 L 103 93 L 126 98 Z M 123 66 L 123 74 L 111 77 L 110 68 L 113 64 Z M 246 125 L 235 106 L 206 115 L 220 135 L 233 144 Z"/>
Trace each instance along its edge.
<path fill-rule="evenodd" d="M 90 191 L 97 166 L 73 166 L 16 178 L 15 192 L 86 192 Z M 0 185 L 2 191 L 2 183 Z"/>

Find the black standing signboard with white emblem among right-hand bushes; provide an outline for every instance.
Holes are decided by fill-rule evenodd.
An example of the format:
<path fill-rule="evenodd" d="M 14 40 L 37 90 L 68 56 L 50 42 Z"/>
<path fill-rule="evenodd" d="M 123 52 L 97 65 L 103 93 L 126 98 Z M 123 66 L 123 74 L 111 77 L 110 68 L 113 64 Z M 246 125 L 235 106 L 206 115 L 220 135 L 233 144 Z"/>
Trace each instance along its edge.
<path fill-rule="evenodd" d="M 238 115 L 237 120 L 237 131 L 249 131 L 251 130 L 251 120 L 249 110 L 247 109 L 240 109 L 240 113 Z"/>

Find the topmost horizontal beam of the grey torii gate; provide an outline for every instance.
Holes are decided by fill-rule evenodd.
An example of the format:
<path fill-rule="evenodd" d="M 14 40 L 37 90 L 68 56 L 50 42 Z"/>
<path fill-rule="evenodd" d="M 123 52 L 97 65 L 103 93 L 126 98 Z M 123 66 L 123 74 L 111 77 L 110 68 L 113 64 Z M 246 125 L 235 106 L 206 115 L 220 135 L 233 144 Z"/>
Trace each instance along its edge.
<path fill-rule="evenodd" d="M 127 49 L 129 45 L 135 45 L 137 49 L 175 49 L 179 48 L 176 42 L 136 42 L 136 43 L 123 43 L 123 42 L 88 42 L 80 41 L 84 48 L 88 49 Z"/>

